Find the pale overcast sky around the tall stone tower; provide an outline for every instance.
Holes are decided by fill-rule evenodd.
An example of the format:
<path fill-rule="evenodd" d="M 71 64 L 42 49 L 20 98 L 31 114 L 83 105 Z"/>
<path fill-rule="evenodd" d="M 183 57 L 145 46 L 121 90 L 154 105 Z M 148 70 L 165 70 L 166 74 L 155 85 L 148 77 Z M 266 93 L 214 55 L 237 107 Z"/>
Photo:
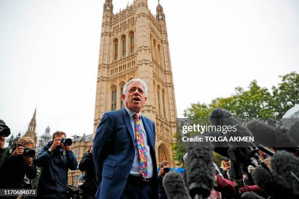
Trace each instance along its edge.
<path fill-rule="evenodd" d="M 0 119 L 92 134 L 105 0 L 0 0 Z M 114 12 L 133 0 L 113 0 Z M 252 80 L 299 71 L 299 0 L 160 0 L 178 117 Z M 155 14 L 157 0 L 149 0 Z"/>

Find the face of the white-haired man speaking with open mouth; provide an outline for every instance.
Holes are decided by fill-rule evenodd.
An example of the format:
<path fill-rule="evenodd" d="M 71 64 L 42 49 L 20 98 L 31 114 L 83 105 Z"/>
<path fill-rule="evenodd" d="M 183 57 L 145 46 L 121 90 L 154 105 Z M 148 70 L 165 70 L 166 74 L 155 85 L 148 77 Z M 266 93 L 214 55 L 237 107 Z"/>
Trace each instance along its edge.
<path fill-rule="evenodd" d="M 126 107 L 134 113 L 139 113 L 147 101 L 144 87 L 139 82 L 130 83 L 126 95 L 122 94 L 122 99 Z"/>

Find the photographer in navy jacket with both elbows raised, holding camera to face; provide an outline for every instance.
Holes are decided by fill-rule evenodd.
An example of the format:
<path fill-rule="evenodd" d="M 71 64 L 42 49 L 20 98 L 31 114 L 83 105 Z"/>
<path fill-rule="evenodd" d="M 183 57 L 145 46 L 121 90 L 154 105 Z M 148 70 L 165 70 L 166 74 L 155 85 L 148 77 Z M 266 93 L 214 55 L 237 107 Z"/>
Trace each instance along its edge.
<path fill-rule="evenodd" d="M 53 140 L 37 156 L 35 163 L 42 167 L 37 191 L 40 199 L 67 198 L 67 172 L 75 170 L 78 162 L 65 137 L 64 132 L 53 133 Z"/>

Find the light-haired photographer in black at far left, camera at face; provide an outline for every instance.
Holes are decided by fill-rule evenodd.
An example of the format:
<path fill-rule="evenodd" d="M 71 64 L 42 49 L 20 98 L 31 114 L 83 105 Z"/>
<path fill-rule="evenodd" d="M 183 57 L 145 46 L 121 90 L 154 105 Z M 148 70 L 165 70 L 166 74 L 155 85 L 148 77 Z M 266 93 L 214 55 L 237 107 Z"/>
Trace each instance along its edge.
<path fill-rule="evenodd" d="M 36 176 L 36 166 L 33 164 L 35 151 L 34 141 L 29 137 L 23 137 L 17 143 L 7 148 L 4 162 L 1 166 L 0 188 L 23 188 L 23 179 Z"/>

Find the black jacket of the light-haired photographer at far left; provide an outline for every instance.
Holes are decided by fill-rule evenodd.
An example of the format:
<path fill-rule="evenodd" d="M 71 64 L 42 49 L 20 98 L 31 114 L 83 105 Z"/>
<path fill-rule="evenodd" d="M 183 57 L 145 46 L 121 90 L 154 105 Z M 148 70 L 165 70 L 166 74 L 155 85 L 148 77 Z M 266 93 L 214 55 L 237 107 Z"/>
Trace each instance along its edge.
<path fill-rule="evenodd" d="M 28 179 L 34 179 L 36 176 L 36 166 L 32 164 L 27 166 L 24 164 L 22 155 L 13 157 L 11 154 L 16 150 L 16 147 L 7 148 L 3 164 L 0 168 L 0 188 L 17 189 L 23 187 L 23 179 L 26 175 Z"/>

